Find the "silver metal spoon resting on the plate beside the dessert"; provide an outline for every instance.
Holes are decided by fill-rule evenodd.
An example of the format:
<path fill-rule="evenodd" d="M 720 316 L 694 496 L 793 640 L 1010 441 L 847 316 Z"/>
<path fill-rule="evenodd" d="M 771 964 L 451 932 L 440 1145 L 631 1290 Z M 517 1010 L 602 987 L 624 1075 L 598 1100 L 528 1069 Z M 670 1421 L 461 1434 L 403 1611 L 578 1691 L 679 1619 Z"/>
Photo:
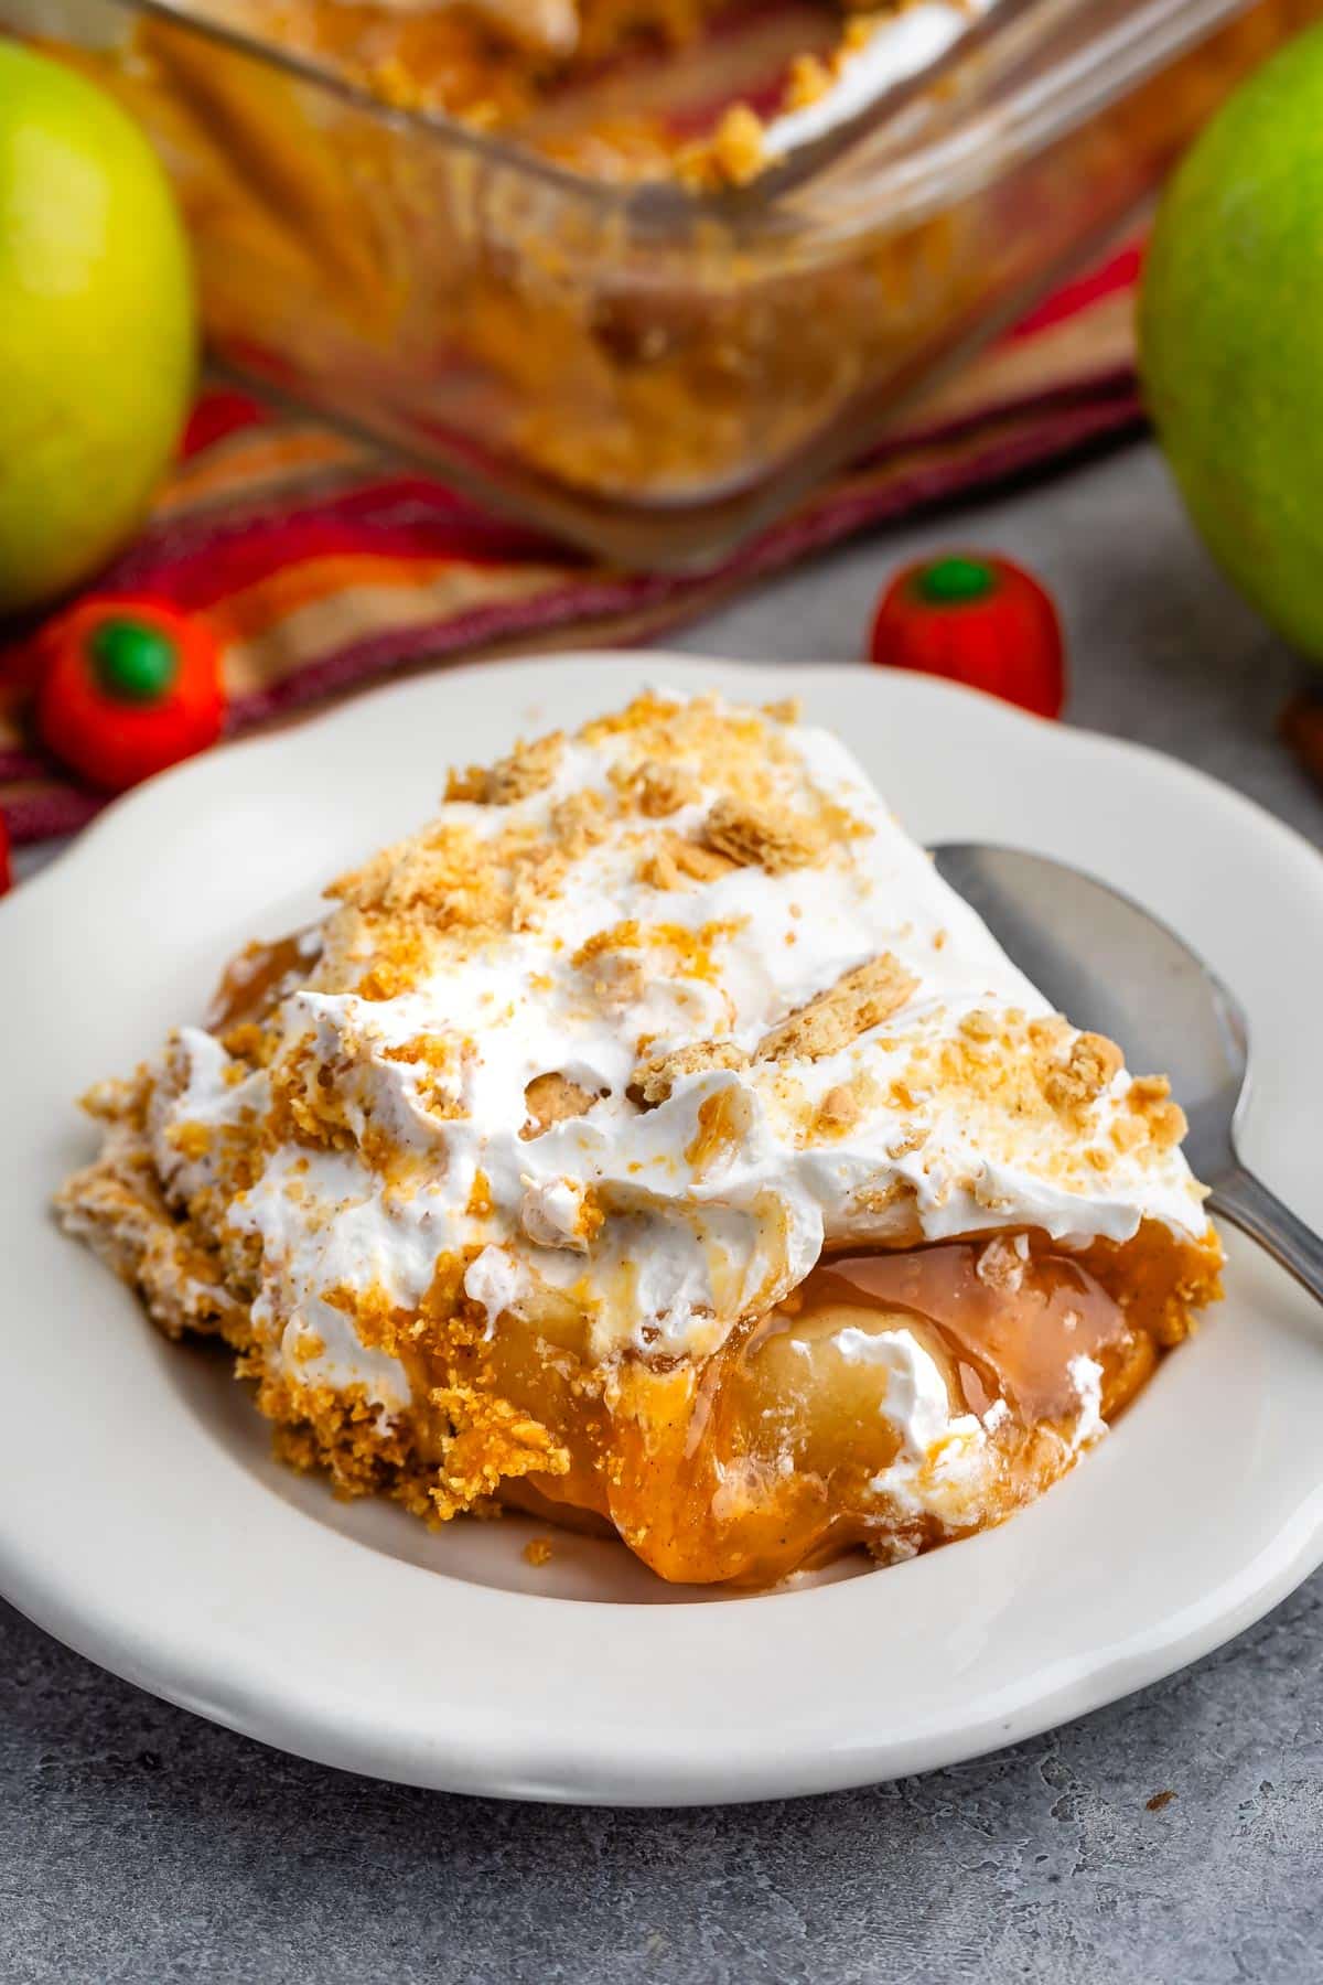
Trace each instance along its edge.
<path fill-rule="evenodd" d="M 1170 1076 L 1190 1120 L 1186 1155 L 1214 1215 L 1252 1235 L 1323 1302 L 1323 1239 L 1240 1161 L 1250 1026 L 1232 992 L 1174 931 L 1065 861 L 946 842 L 938 873 L 1075 1026 L 1109 1034 L 1131 1068 Z"/>

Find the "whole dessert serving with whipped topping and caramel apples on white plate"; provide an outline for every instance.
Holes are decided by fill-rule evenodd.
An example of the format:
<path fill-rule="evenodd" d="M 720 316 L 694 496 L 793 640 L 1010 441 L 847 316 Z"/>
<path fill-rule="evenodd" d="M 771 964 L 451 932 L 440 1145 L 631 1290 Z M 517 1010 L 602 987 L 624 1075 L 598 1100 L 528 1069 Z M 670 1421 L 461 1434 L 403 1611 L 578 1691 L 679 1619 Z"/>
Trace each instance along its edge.
<path fill-rule="evenodd" d="M 672 1580 L 1000 1522 L 1218 1294 L 1166 1082 L 791 709 L 649 695 L 452 774 L 87 1102 L 65 1225 L 290 1461 Z"/>

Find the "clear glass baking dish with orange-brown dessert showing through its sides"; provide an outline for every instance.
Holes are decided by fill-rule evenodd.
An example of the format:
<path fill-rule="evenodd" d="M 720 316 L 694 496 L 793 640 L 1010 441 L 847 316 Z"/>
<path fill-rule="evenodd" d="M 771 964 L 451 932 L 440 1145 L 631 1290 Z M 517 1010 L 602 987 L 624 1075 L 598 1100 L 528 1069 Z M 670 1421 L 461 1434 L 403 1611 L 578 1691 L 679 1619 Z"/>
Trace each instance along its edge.
<path fill-rule="evenodd" d="M 696 191 L 391 107 L 177 6 L 0 0 L 153 135 L 222 365 L 649 568 L 720 560 L 865 451 L 1319 14 L 994 0 L 752 185 Z"/>

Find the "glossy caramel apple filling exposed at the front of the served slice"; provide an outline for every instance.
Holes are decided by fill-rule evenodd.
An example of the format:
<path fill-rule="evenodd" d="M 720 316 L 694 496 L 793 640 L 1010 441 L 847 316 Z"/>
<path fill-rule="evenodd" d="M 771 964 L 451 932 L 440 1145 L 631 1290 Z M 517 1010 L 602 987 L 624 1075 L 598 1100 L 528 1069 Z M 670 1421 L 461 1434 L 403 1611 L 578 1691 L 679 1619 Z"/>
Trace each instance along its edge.
<path fill-rule="evenodd" d="M 843 1328 L 910 1330 L 954 1415 L 1006 1401 L 988 1469 L 946 1517 L 879 1501 L 902 1429 L 887 1360 L 845 1356 Z M 1156 1352 L 1079 1260 L 980 1241 L 823 1260 L 702 1362 L 627 1358 L 609 1397 L 585 1356 L 514 1318 L 474 1348 L 476 1384 L 534 1413 L 569 1457 L 563 1475 L 502 1483 L 500 1499 L 571 1526 L 605 1522 L 670 1580 L 768 1586 L 857 1544 L 904 1554 L 1000 1522 L 1073 1459 L 1071 1362 L 1101 1364 L 1111 1415 Z M 428 1374 L 411 1376 L 424 1397 Z M 440 1423 L 434 1437 L 440 1449 Z"/>

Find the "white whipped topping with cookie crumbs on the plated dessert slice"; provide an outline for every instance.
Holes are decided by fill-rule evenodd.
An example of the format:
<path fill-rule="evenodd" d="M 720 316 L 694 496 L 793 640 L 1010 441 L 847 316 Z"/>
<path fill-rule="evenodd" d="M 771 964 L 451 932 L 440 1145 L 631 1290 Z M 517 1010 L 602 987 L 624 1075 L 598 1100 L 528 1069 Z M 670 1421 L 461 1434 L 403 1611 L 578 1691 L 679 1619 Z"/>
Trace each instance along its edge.
<path fill-rule="evenodd" d="M 559 1298 L 609 1362 L 712 1352 L 825 1247 L 998 1229 L 1075 1247 L 1127 1241 L 1144 1219 L 1206 1231 L 1178 1143 L 1148 1135 L 1123 1068 L 1081 1102 L 1069 1084 L 1051 1100 L 1089 1036 L 1039 1026 L 1047 1002 L 839 740 L 661 695 L 538 762 L 530 790 L 450 800 L 351 879 L 266 1020 L 266 1066 L 232 1056 L 224 1028 L 184 1028 L 163 1064 L 161 1179 L 180 1203 L 228 1191 L 230 1227 L 260 1245 L 254 1316 L 292 1376 L 403 1405 L 403 1368 L 357 1340 L 351 1310 L 417 1308 L 446 1258 L 488 1332 L 536 1324 Z M 641 806 L 659 764 L 674 790 Z M 752 788 L 766 820 L 815 830 L 809 854 L 716 836 L 714 810 Z M 591 834 L 565 838 L 567 808 Z M 516 889 L 520 907 L 490 925 L 448 921 L 442 903 L 399 985 L 367 989 L 393 929 L 381 903 L 413 903 L 450 846 L 468 850 L 456 887 L 480 893 L 512 836 L 520 860 L 561 850 L 528 899 Z M 736 856 L 714 860 L 718 846 Z M 879 959 L 895 987 L 883 1018 L 847 1002 L 811 1042 L 785 1034 Z M 666 1056 L 678 1062 L 649 1094 L 641 1072 Z M 1008 1070 L 1023 1076 L 1014 1092 Z M 543 1127 L 545 1078 L 559 1110 Z M 254 1124 L 262 1169 L 234 1191 L 226 1153 Z M 918 1344 L 843 1336 L 843 1356 L 895 1362 L 906 1453 L 986 1439 L 978 1421 L 954 1425 Z"/>

